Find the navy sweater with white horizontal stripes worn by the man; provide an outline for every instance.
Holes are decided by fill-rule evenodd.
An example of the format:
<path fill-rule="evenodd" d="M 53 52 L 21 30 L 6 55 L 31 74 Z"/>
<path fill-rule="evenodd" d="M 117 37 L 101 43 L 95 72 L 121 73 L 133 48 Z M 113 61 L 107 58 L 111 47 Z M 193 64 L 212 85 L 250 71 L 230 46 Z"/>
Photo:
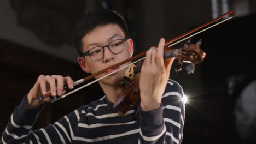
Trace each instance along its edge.
<path fill-rule="evenodd" d="M 121 117 L 104 96 L 37 130 L 31 128 L 44 106 L 29 109 L 24 97 L 0 143 L 181 143 L 185 113 L 182 97 L 181 86 L 169 80 L 158 109 L 143 111 L 137 101 L 127 117 Z M 136 111 L 138 118 L 128 118 Z"/>

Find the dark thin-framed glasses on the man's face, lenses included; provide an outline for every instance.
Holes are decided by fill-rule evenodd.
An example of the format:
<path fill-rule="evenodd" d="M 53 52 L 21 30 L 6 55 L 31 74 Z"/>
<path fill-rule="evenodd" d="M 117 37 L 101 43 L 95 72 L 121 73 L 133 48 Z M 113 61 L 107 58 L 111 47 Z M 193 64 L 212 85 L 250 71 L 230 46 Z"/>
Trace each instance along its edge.
<path fill-rule="evenodd" d="M 83 53 L 84 56 L 89 56 L 92 61 L 99 61 L 104 56 L 104 47 L 108 47 L 108 49 L 114 53 L 118 54 L 124 50 L 124 41 L 127 40 L 127 38 L 124 39 L 116 39 L 111 41 L 108 45 L 105 46 L 96 46 L 92 47 L 90 50 Z"/>

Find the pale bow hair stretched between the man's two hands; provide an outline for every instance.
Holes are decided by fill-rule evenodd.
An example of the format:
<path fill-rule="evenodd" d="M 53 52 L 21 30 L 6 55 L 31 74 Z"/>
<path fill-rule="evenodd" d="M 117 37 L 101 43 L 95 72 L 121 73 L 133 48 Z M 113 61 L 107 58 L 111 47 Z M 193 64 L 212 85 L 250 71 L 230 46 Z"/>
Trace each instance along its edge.
<path fill-rule="evenodd" d="M 134 63 L 137 63 L 137 62 L 139 62 L 139 61 L 141 61 L 142 59 L 145 59 L 145 58 L 146 58 L 146 57 L 143 57 L 143 58 L 141 58 L 141 59 L 138 59 L 138 60 L 135 61 L 135 62 L 132 62 L 132 63 L 130 63 L 130 64 L 125 65 L 123 68 L 120 68 L 120 69 L 118 69 L 118 70 L 112 71 L 111 73 L 109 73 L 109 74 L 107 74 L 107 75 L 104 75 L 104 76 L 100 77 L 100 78 L 97 79 L 97 80 L 94 80 L 94 81 L 92 81 L 92 82 L 89 82 L 89 83 L 87 83 L 87 84 L 84 85 L 84 86 L 81 86 L 81 87 L 79 87 L 79 88 L 77 88 L 77 89 L 74 89 L 74 90 L 71 91 L 71 92 L 68 92 L 68 93 L 66 93 L 66 94 L 63 94 L 63 95 L 61 95 L 61 99 L 62 99 L 62 98 L 65 98 L 65 97 L 66 97 L 67 95 L 69 95 L 69 94 L 72 94 L 72 93 L 74 93 L 74 92 L 77 92 L 77 91 L 79 91 L 80 89 L 85 88 L 85 87 L 91 85 L 92 83 L 95 83 L 95 82 L 97 82 L 97 81 L 99 81 L 99 80 L 101 80 L 101 79 L 104 79 L 105 77 L 107 77 L 107 76 L 109 76 L 109 75 L 112 75 L 113 73 L 117 73 L 119 70 L 122 70 L 122 69 L 124 69 L 124 68 L 126 68 L 126 67 L 129 67 L 130 65 L 132 65 L 132 64 L 134 64 Z"/>

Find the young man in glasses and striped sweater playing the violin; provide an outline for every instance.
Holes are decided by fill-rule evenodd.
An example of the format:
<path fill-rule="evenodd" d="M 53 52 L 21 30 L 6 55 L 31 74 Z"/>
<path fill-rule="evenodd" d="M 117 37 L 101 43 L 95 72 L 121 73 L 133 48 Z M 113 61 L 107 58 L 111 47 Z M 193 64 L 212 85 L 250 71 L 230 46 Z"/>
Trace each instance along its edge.
<path fill-rule="evenodd" d="M 79 53 L 78 62 L 86 73 L 96 73 L 130 58 L 133 41 L 124 18 L 111 10 L 96 10 L 87 14 L 73 31 L 73 43 Z M 60 96 L 63 85 L 73 88 L 70 77 L 40 75 L 30 92 L 16 107 L 5 129 L 1 143 L 181 143 L 184 124 L 183 91 L 177 82 L 168 80 L 173 62 L 164 62 L 165 40 L 158 48 L 151 47 L 141 68 L 140 97 L 127 112 L 139 117 L 118 115 L 113 103 L 118 100 L 124 67 L 111 69 L 95 78 L 116 73 L 99 81 L 103 98 L 82 106 L 46 128 L 31 131 L 48 92 Z M 93 95 L 92 95 L 93 96 Z"/>

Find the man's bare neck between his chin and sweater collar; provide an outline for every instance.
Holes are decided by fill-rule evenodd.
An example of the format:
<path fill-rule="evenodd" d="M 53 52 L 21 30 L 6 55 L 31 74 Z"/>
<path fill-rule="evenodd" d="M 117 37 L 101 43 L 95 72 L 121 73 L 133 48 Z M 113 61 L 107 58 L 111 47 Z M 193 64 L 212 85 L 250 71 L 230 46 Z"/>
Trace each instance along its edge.
<path fill-rule="evenodd" d="M 115 85 L 107 85 L 102 82 L 99 82 L 99 83 L 104 93 L 106 94 L 106 97 L 108 98 L 108 100 L 112 103 L 115 103 L 119 98 L 122 88 Z"/>

